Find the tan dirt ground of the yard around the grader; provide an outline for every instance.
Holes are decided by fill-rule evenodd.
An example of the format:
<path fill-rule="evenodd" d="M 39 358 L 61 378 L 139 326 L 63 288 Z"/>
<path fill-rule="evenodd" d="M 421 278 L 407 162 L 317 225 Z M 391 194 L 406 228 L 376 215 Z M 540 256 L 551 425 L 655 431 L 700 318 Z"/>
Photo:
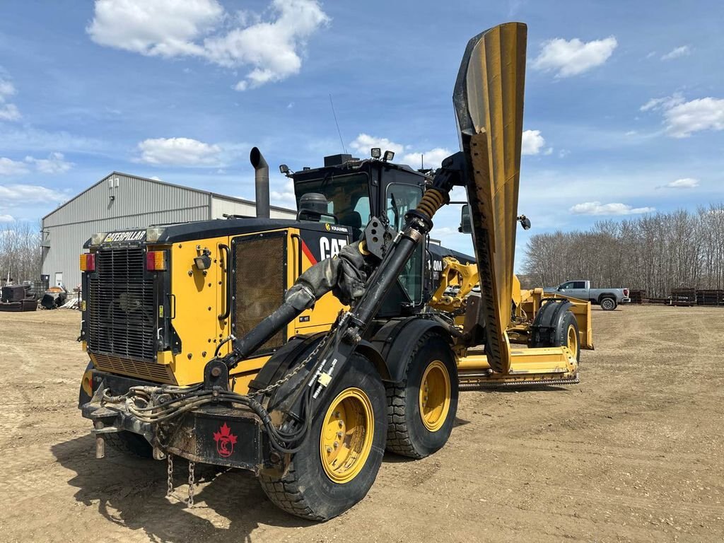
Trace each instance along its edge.
<path fill-rule="evenodd" d="M 724 310 L 593 316 L 581 384 L 464 392 L 443 450 L 387 455 L 365 500 L 315 524 L 241 471 L 201 470 L 188 509 L 166 463 L 96 460 L 80 316 L 0 313 L 0 541 L 723 541 Z"/>

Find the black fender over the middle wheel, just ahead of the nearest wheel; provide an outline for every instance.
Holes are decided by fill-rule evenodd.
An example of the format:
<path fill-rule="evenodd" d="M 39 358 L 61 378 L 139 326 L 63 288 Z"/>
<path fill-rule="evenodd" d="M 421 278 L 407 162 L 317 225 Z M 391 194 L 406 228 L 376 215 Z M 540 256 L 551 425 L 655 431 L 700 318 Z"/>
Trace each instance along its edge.
<path fill-rule="evenodd" d="M 403 381 L 408 358 L 416 347 L 417 340 L 430 330 L 439 331 L 440 335 L 452 345 L 452 337 L 445 326 L 419 316 L 390 321 L 374 334 L 371 347 L 382 356 L 382 362 L 387 369 L 386 374 L 381 373 L 383 381 L 393 383 Z"/>

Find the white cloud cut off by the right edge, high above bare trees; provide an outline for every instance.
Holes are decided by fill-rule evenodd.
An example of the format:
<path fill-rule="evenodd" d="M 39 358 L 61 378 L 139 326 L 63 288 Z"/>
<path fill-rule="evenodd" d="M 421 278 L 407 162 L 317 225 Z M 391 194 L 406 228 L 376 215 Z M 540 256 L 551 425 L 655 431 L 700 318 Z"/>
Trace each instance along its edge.
<path fill-rule="evenodd" d="M 672 138 L 689 138 L 701 130 L 724 130 L 724 99 L 697 98 L 685 101 L 680 93 L 652 98 L 641 111 L 662 111 L 666 133 Z"/>

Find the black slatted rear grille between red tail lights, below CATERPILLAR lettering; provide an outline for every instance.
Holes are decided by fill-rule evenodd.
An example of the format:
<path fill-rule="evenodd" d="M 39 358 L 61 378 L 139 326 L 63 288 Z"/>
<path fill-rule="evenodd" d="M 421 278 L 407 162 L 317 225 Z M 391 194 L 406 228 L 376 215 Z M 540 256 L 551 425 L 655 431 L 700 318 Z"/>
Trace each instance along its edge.
<path fill-rule="evenodd" d="M 140 248 L 96 253 L 88 278 L 88 349 L 141 361 L 156 355 L 153 275 Z"/>

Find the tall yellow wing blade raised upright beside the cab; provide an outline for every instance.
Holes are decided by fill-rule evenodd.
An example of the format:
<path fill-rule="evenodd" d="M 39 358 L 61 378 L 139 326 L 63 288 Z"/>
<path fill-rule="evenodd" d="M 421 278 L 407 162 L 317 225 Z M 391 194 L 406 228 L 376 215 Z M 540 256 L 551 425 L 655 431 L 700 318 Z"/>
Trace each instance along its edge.
<path fill-rule="evenodd" d="M 468 201 L 481 285 L 486 353 L 494 371 L 510 369 L 515 227 L 523 135 L 526 25 L 509 22 L 468 42 L 453 104 L 470 175 Z"/>

